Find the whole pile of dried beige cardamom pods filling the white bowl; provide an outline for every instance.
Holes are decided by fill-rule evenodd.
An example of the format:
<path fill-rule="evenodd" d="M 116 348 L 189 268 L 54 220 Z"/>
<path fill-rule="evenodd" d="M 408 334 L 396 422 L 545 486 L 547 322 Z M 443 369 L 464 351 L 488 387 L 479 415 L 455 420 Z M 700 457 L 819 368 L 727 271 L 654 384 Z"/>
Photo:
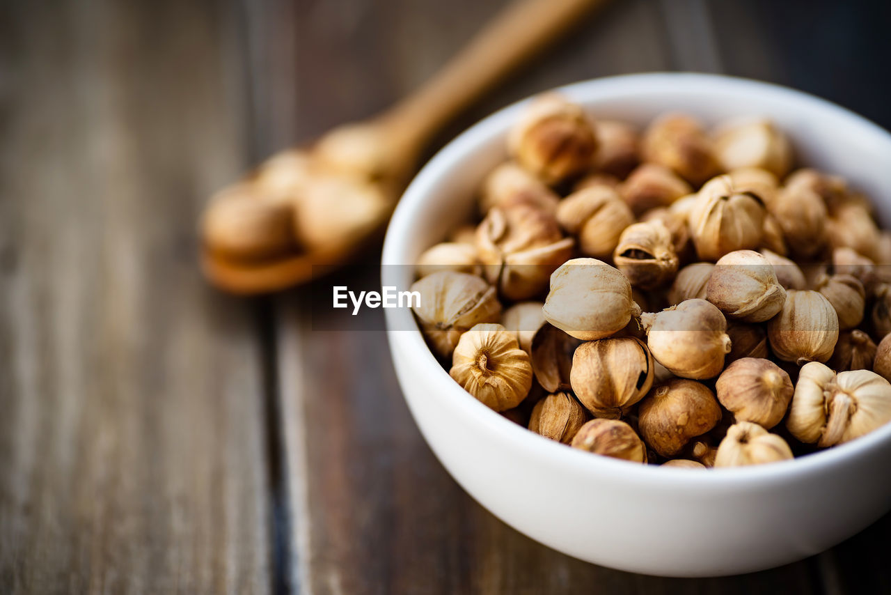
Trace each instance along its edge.
<path fill-rule="evenodd" d="M 512 421 L 640 463 L 792 459 L 891 421 L 891 233 L 763 119 L 642 131 L 535 98 L 414 309 Z"/>

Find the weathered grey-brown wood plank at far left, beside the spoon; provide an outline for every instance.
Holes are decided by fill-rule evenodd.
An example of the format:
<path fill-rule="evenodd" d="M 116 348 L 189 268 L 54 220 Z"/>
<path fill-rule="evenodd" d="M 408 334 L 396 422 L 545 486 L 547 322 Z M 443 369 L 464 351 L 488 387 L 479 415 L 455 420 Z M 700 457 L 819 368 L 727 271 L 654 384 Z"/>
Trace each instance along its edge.
<path fill-rule="evenodd" d="M 0 591 L 267 591 L 255 315 L 194 256 L 244 161 L 233 14 L 3 11 Z"/>

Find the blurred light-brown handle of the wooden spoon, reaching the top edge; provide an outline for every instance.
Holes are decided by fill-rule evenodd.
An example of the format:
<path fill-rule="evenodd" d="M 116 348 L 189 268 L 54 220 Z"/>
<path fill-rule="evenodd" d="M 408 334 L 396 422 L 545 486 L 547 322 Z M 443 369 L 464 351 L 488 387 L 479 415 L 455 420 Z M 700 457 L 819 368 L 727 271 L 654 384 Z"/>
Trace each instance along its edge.
<path fill-rule="evenodd" d="M 432 79 L 380 116 L 388 136 L 417 153 L 429 137 L 495 87 L 585 13 L 607 0 L 517 0 Z"/>

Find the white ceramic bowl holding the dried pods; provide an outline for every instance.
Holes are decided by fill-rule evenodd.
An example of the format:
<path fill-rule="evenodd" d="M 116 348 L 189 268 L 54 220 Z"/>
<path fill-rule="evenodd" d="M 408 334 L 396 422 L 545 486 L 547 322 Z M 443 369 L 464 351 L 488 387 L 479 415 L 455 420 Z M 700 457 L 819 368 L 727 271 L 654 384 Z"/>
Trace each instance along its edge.
<path fill-rule="evenodd" d="M 800 162 L 846 176 L 891 220 L 891 135 L 833 103 L 699 74 L 596 79 L 560 91 L 596 117 L 640 125 L 674 110 L 709 124 L 768 116 L 792 137 Z M 404 265 L 471 212 L 478 182 L 504 158 L 522 103 L 454 139 L 414 179 L 389 225 L 383 285 L 411 285 Z M 487 409 L 439 366 L 409 310 L 386 313 L 405 400 L 438 459 L 495 516 L 570 556 L 646 574 L 745 573 L 825 550 L 891 508 L 891 425 L 760 467 L 702 471 L 598 457 Z"/>

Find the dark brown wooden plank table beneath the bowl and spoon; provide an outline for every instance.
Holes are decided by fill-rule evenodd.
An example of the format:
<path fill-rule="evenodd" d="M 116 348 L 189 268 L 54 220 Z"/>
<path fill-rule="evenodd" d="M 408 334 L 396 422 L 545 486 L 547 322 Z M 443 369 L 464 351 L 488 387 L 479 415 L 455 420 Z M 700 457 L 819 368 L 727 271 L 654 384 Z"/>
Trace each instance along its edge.
<path fill-rule="evenodd" d="M 330 285 L 244 300 L 201 279 L 211 190 L 405 94 L 500 4 L 0 7 L 0 592 L 891 592 L 889 516 L 733 578 L 562 556 L 446 475 L 383 333 L 313 330 Z M 440 141 L 641 70 L 779 81 L 891 125 L 887 4 L 796 4 L 617 2 Z"/>

